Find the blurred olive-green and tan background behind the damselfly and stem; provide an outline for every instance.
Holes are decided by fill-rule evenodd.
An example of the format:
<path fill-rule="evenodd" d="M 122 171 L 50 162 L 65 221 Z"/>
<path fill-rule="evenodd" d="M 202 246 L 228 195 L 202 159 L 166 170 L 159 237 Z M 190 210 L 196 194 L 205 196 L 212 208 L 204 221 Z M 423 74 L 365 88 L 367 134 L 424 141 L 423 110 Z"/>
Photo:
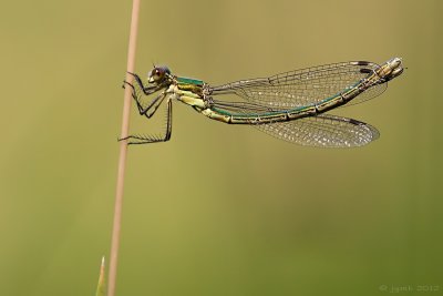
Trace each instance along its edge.
<path fill-rule="evenodd" d="M 0 295 L 95 290 L 131 9 L 2 4 Z M 297 146 L 175 103 L 171 142 L 130 147 L 117 295 L 441 295 L 442 12 L 439 0 L 143 1 L 143 76 L 153 62 L 213 84 L 392 57 L 408 70 L 332 112 L 380 130 L 360 149 Z M 162 132 L 156 118 L 133 108 L 132 132 Z"/>

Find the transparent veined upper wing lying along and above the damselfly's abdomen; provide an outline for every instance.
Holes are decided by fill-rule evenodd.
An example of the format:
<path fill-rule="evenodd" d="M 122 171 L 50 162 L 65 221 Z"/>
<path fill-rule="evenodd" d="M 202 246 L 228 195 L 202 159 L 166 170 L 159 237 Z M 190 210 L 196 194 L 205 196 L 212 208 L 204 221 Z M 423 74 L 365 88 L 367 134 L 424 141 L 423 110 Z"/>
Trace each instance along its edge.
<path fill-rule="evenodd" d="M 212 94 L 236 94 L 249 102 L 278 109 L 290 109 L 318 103 L 370 75 L 378 64 L 343 62 L 280 73 L 269 78 L 240 80 L 210 88 Z M 375 84 L 346 105 L 360 103 L 380 95 L 387 83 Z"/>

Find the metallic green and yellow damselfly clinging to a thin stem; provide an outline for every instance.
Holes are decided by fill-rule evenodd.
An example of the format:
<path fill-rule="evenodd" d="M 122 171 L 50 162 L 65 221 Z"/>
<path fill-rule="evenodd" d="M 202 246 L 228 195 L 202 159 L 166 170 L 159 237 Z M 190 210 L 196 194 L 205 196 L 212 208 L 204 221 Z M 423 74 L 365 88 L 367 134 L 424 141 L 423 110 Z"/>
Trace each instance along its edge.
<path fill-rule="evenodd" d="M 403 72 L 402 61 L 393 58 L 378 65 L 357 61 L 319 65 L 247 79 L 212 86 L 202 80 L 176 76 L 167 67 L 154 67 L 147 85 L 137 74 L 132 95 L 141 115 L 151 118 L 166 100 L 167 123 L 164 136 L 130 135 L 130 144 L 165 142 L 171 139 L 172 101 L 177 100 L 196 111 L 230 124 L 249 124 L 275 137 L 311 146 L 360 146 L 379 137 L 375 127 L 361 121 L 329 115 L 324 112 L 360 103 L 380 95 L 387 82 Z M 235 94 L 243 102 L 216 100 Z M 151 101 L 148 98 L 154 95 Z"/>

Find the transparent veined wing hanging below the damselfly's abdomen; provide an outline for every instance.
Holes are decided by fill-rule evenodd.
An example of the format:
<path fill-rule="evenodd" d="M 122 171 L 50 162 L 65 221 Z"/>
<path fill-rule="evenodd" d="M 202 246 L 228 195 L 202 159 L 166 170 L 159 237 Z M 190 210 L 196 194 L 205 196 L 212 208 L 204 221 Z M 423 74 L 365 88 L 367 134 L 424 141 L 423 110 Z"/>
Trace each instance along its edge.
<path fill-rule="evenodd" d="M 380 136 L 375 127 L 364 122 L 323 114 L 254 126 L 280 140 L 318 147 L 362 146 Z"/>

